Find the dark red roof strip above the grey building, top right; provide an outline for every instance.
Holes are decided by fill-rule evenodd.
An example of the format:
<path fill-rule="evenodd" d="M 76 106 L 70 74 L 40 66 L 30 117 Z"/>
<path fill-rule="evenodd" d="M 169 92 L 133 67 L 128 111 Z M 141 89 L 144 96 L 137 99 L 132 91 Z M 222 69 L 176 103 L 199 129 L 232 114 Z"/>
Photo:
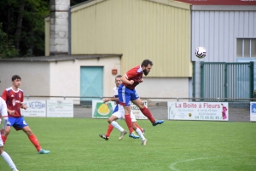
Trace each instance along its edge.
<path fill-rule="evenodd" d="M 176 0 L 192 5 L 256 5 L 256 0 Z M 256 7 L 255 7 L 256 10 Z"/>

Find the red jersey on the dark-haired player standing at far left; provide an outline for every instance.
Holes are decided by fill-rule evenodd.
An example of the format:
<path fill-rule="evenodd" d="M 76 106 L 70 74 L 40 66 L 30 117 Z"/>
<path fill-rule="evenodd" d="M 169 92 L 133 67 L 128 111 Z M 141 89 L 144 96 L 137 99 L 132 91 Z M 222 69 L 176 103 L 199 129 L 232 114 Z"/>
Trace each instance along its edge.
<path fill-rule="evenodd" d="M 3 100 L 5 100 L 7 108 L 11 111 L 15 111 L 15 114 L 10 116 L 8 113 L 8 117 L 21 117 L 20 114 L 20 103 L 23 102 L 24 96 L 23 91 L 18 88 L 17 91 L 13 90 L 13 88 L 6 88 L 2 94 Z"/>

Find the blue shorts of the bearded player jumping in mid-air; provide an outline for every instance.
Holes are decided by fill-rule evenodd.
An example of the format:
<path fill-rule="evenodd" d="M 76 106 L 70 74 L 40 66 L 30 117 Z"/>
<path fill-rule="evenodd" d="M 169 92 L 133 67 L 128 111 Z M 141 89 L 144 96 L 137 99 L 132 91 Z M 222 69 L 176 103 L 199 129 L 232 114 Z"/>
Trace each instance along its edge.
<path fill-rule="evenodd" d="M 132 100 L 137 100 L 139 96 L 135 89 L 126 88 L 123 84 L 119 86 L 119 104 L 120 105 L 131 105 Z"/>

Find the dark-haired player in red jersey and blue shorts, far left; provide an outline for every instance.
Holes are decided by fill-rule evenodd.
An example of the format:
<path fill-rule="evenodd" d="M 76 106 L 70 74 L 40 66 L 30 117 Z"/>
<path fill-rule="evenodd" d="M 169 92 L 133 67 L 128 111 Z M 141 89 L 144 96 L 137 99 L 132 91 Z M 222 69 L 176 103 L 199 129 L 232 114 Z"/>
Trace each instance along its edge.
<path fill-rule="evenodd" d="M 7 136 L 10 132 L 10 127 L 13 126 L 17 131 L 22 129 L 24 133 L 27 134 L 28 139 L 36 147 L 39 154 L 48 154 L 49 151 L 45 151 L 41 148 L 37 137 L 32 134 L 31 128 L 29 128 L 28 124 L 20 114 L 20 108 L 25 110 L 27 108 L 26 105 L 23 104 L 24 96 L 23 91 L 19 88 L 20 80 L 20 76 L 13 76 L 12 87 L 6 88 L 2 94 L 3 100 L 6 101 L 9 117 L 9 122 L 6 126 L 4 133 L 2 134 L 3 144 L 5 143 Z"/>

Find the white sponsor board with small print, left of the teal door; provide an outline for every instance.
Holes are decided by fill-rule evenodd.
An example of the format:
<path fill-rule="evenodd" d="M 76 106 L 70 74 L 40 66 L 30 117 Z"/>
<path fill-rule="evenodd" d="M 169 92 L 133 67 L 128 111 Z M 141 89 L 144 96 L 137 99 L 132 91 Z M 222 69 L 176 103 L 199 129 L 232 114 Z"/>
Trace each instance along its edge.
<path fill-rule="evenodd" d="M 47 100 L 47 117 L 73 117 L 73 100 Z"/>

